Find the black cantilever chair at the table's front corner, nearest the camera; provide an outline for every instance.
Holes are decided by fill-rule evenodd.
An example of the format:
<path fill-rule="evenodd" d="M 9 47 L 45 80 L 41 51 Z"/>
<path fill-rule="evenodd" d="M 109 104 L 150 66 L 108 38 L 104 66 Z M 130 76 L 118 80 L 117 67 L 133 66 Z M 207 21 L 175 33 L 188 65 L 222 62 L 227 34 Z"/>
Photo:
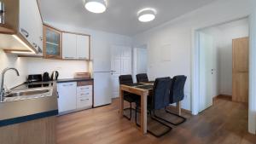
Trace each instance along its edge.
<path fill-rule="evenodd" d="M 148 130 L 148 133 L 160 137 L 162 135 L 166 135 L 170 130 L 172 130 L 172 127 L 169 125 L 166 125 L 162 123 L 160 120 L 156 119 L 153 117 L 152 112 L 154 113 L 154 110 L 159 110 L 162 108 L 165 108 L 169 105 L 169 93 L 170 93 L 170 84 L 171 84 L 171 79 L 170 78 L 156 78 L 154 81 L 154 88 L 153 88 L 153 95 L 151 99 L 148 99 L 148 112 L 150 115 L 150 118 L 152 118 L 154 121 L 157 121 L 158 123 L 164 125 L 167 130 L 160 135 L 155 134 L 154 131 Z M 135 119 L 136 119 L 136 124 L 137 124 L 137 112 L 140 107 L 141 101 L 137 101 L 137 107 L 136 107 L 136 114 L 135 114 Z M 140 126 L 139 124 L 137 124 Z"/>

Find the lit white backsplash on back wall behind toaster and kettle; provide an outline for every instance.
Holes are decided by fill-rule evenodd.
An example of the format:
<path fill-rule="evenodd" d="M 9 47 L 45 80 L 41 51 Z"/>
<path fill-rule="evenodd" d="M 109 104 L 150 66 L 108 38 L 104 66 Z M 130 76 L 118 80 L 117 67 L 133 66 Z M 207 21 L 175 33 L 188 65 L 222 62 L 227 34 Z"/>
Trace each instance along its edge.
<path fill-rule="evenodd" d="M 73 78 L 75 72 L 88 72 L 88 62 L 84 60 L 49 60 L 41 58 L 21 58 L 26 60 L 28 74 L 59 72 L 59 78 Z"/>

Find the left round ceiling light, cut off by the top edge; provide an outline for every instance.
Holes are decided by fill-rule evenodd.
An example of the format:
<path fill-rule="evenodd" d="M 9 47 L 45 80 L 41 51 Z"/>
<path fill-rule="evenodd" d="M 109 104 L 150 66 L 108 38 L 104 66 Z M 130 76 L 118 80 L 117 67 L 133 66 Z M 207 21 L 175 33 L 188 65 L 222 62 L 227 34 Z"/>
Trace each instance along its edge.
<path fill-rule="evenodd" d="M 105 0 L 86 0 L 84 7 L 92 13 L 103 13 L 107 9 L 107 4 Z"/>

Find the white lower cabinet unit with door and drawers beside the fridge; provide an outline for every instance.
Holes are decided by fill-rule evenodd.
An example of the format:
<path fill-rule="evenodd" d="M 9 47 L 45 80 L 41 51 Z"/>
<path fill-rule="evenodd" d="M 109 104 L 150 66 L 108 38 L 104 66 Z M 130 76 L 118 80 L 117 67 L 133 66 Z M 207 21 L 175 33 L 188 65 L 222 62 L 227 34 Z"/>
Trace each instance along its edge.
<path fill-rule="evenodd" d="M 57 86 L 59 113 L 74 112 L 92 107 L 92 85 L 70 82 L 59 83 Z"/>

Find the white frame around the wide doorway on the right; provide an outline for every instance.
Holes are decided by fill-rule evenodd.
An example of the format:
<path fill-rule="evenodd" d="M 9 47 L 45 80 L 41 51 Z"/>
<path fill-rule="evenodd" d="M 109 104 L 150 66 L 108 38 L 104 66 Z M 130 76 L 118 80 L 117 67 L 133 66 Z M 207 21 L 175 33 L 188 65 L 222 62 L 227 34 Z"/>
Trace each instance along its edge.
<path fill-rule="evenodd" d="M 233 20 L 249 19 L 249 97 L 248 97 L 248 132 L 256 134 L 256 10 L 253 14 L 239 17 L 232 20 L 221 20 L 191 29 L 191 103 L 192 114 L 197 115 L 200 107 L 200 47 L 199 30 L 211 26 L 224 24 Z M 255 31 L 255 32 L 252 32 Z"/>

